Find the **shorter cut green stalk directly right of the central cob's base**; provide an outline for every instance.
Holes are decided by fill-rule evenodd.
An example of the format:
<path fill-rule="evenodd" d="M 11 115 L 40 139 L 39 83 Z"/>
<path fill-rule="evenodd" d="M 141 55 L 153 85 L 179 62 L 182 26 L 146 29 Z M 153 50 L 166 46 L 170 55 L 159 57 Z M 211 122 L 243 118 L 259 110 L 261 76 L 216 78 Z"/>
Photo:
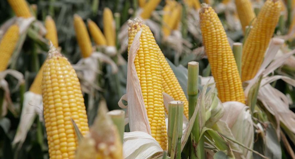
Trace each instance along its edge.
<path fill-rule="evenodd" d="M 183 104 L 182 101 L 168 104 L 168 154 L 171 159 L 181 159 Z"/>

